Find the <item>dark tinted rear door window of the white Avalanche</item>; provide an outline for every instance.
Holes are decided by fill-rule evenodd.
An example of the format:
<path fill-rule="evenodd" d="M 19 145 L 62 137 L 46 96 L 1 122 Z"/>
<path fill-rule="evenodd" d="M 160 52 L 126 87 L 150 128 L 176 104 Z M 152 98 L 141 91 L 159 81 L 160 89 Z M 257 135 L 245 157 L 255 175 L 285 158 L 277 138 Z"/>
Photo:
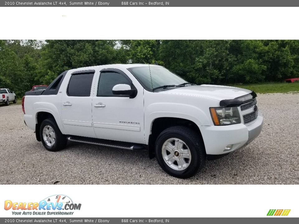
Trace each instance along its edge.
<path fill-rule="evenodd" d="M 69 80 L 67 93 L 69 96 L 90 96 L 93 73 L 73 74 Z"/>

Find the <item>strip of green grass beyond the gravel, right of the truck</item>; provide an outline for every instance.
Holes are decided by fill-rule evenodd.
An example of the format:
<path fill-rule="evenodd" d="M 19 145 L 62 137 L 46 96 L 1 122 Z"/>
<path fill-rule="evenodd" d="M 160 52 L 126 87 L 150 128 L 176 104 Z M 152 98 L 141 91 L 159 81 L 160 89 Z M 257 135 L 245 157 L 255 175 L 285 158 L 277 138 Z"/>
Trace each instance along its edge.
<path fill-rule="evenodd" d="M 282 83 L 282 82 L 267 82 L 260 84 L 244 84 L 231 85 L 239 88 L 249 89 L 256 93 L 299 93 L 299 82 Z"/>

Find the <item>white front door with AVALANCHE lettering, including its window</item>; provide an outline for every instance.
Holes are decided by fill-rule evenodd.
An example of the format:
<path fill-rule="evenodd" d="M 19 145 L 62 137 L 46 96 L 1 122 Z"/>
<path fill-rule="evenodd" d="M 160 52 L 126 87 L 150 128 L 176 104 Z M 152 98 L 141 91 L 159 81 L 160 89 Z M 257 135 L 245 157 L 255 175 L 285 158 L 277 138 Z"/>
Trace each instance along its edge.
<path fill-rule="evenodd" d="M 144 144 L 143 89 L 134 98 L 117 96 L 112 93 L 117 84 L 135 88 L 124 72 L 101 71 L 92 102 L 95 134 L 97 138 Z"/>

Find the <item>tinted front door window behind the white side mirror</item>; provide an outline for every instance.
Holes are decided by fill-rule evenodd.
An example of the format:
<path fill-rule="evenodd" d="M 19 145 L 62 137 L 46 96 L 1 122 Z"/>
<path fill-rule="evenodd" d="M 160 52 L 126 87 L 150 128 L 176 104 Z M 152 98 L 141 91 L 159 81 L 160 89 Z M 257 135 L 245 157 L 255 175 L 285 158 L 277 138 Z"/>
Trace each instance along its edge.
<path fill-rule="evenodd" d="M 131 86 L 131 82 L 123 75 L 117 72 L 101 72 L 97 96 L 116 96 L 112 93 L 113 86 L 117 84 L 127 84 Z"/>

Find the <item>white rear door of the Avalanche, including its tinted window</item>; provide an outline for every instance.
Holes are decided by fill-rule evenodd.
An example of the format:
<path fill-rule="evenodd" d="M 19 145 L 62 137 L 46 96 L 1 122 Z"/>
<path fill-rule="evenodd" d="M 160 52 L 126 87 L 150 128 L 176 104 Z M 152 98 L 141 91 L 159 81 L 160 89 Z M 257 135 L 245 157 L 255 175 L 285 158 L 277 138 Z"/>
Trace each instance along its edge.
<path fill-rule="evenodd" d="M 62 96 L 61 117 L 66 134 L 95 138 L 92 125 L 94 70 L 73 72 Z"/>

